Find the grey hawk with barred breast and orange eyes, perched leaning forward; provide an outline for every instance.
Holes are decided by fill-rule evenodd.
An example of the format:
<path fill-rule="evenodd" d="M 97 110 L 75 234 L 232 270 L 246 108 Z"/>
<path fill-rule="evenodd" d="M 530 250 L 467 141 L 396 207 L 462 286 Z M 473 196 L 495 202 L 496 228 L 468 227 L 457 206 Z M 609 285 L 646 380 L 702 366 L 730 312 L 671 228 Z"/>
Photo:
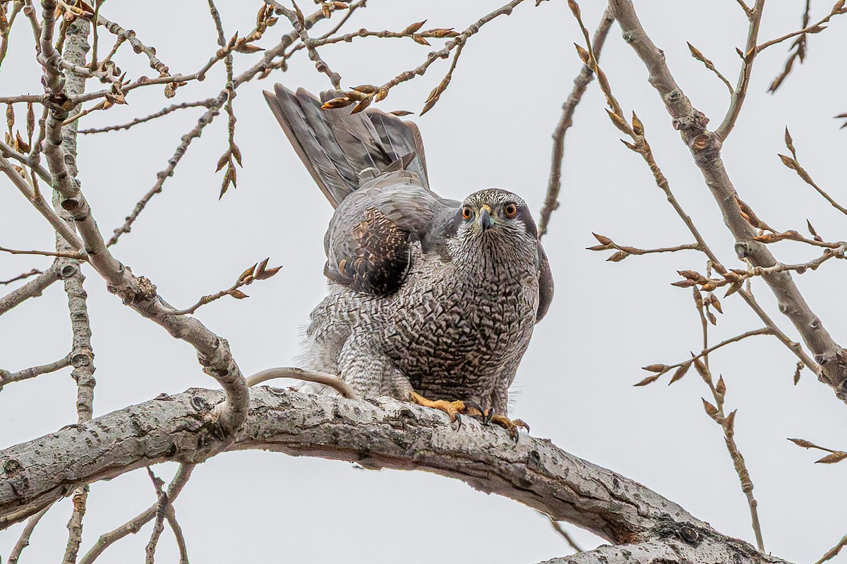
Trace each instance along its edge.
<path fill-rule="evenodd" d="M 321 108 L 341 92 L 264 95 L 335 207 L 328 295 L 310 316 L 302 367 L 459 424 L 481 415 L 517 439 L 526 425 L 507 417 L 509 386 L 553 297 L 527 205 L 503 189 L 441 198 L 418 127 L 373 108 Z"/>

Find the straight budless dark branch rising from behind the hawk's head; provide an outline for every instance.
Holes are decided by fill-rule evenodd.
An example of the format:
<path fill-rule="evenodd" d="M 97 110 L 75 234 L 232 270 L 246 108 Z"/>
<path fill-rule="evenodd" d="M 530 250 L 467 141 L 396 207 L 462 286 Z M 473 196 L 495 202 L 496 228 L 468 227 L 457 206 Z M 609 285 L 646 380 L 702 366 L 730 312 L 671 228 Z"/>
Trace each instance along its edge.
<path fill-rule="evenodd" d="M 594 39 L 591 41 L 591 51 L 598 59 L 614 20 L 612 12 L 606 8 L 600 19 L 600 25 L 597 25 L 597 30 L 594 32 Z M 544 237 L 547 233 L 553 211 L 556 211 L 559 207 L 559 191 L 562 189 L 562 160 L 565 157 L 565 134 L 567 134 L 567 129 L 570 129 L 573 125 L 573 112 L 576 111 L 585 89 L 593 79 L 594 71 L 589 65 L 583 64 L 582 68 L 579 69 L 579 74 L 573 79 L 573 90 L 562 104 L 562 116 L 559 118 L 559 123 L 556 123 L 556 129 L 553 129 L 550 181 L 547 183 L 547 195 L 538 222 L 539 238 Z"/>

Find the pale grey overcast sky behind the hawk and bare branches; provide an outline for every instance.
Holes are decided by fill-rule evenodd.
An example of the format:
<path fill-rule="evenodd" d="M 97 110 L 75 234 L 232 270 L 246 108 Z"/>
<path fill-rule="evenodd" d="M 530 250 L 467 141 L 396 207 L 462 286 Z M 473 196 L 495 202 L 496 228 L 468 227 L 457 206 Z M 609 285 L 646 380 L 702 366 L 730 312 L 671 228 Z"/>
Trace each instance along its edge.
<path fill-rule="evenodd" d="M 425 18 L 426 28 L 463 30 L 501 3 L 371 0 L 367 9 L 354 15 L 348 30 L 402 30 Z M 306 9 L 311 3 L 302 4 Z M 735 47 L 743 47 L 746 36 L 746 19 L 738 4 L 733 0 L 637 4 L 645 29 L 664 50 L 679 85 L 716 126 L 726 111 L 727 89 L 690 57 L 685 41 L 711 58 L 734 83 L 739 68 Z M 768 4 L 760 37 L 770 39 L 798 28 L 800 4 Z M 228 36 L 252 30 L 258 3 L 249 5 L 220 6 Z M 593 29 L 604 4 L 581 5 L 586 25 Z M 217 49 L 205 3 L 148 2 L 144 7 L 110 2 L 102 14 L 136 30 L 141 41 L 157 48 L 172 72 L 194 72 Z M 812 7 L 812 21 L 829 9 L 821 3 Z M 847 204 L 847 130 L 839 131 L 840 123 L 833 119 L 847 112 L 844 25 L 836 19 L 831 29 L 810 37 L 806 62 L 795 68 L 775 96 L 766 93 L 767 85 L 782 68 L 788 44 L 757 57 L 750 96 L 723 151 L 740 197 L 761 218 L 778 229 L 799 231 L 809 219 L 827 240 L 847 238 L 844 216 L 783 167 L 776 154 L 784 152 L 787 125 L 800 162 Z M 260 44 L 274 45 L 285 28 L 280 19 Z M 430 184 L 439 194 L 462 200 L 477 189 L 498 186 L 521 194 L 534 212 L 540 210 L 550 169 L 550 135 L 579 71 L 575 41 L 581 43 L 582 36 L 561 0 L 538 8 L 527 0 L 512 16 L 495 19 L 468 41 L 450 88 L 435 109 L 416 119 L 424 134 Z M 31 42 L 25 19 L 20 19 L 0 72 L 0 95 L 41 91 Z M 110 45 L 108 40 L 103 43 Z M 342 75 L 343 85 L 380 85 L 417 67 L 431 49 L 410 40 L 363 39 L 326 47 L 322 54 Z M 236 54 L 236 72 L 253 60 L 255 56 Z M 130 77 L 154 75 L 146 58 L 128 46 L 122 47 L 117 61 Z M 380 107 L 418 112 L 448 64 L 436 62 L 423 77 L 391 90 Z M 601 66 L 624 110 L 635 110 L 645 123 L 657 162 L 711 248 L 724 264 L 743 267 L 734 258 L 733 240 L 700 172 L 648 84 L 643 64 L 621 41 L 617 26 Z M 223 81 L 223 65 L 218 65 L 205 82 L 180 88 L 174 101 L 214 96 Z M 238 189 L 218 200 L 222 173 L 215 174 L 214 167 L 226 147 L 222 113 L 201 139 L 194 140 L 132 233 L 113 248 L 117 259 L 137 275 L 149 277 L 162 297 L 177 307 L 229 287 L 241 271 L 266 256 L 272 266 L 282 265 L 278 276 L 246 288 L 249 299 L 222 299 L 197 312 L 205 325 L 229 340 L 245 374 L 291 364 L 298 331 L 325 291 L 323 235 L 332 209 L 263 101 L 261 90 L 270 89 L 274 81 L 313 91 L 329 86 L 307 57 L 298 57 L 285 74 L 278 72 L 240 88 L 235 135 L 244 168 L 238 171 Z M 102 85 L 89 81 L 87 87 Z M 127 101 L 128 106 L 92 113 L 82 126 L 123 123 L 171 103 L 161 87 L 135 90 Z M 692 242 L 645 163 L 618 141 L 620 133 L 606 118 L 604 107 L 600 90 L 590 85 L 567 136 L 562 206 L 544 239 L 556 298 L 518 370 L 519 393 L 512 416 L 529 422 L 534 436 L 548 437 L 567 452 L 636 479 L 722 533 L 753 542 L 745 497 L 722 432 L 703 412 L 700 397 L 708 394 L 704 383 L 692 371 L 670 387 L 664 385 L 667 376 L 646 388 L 632 386 L 646 375 L 640 366 L 673 364 L 688 357 L 689 350 L 700 349 L 700 321 L 690 290 L 670 282 L 678 280 L 677 270 L 704 271 L 703 257 L 695 252 L 634 256 L 616 264 L 605 261 L 607 252 L 584 249 L 595 244 L 591 232 L 641 248 Z M 202 110 L 182 110 L 129 131 L 80 137 L 80 180 L 103 233 L 123 223 Z M 53 233 L 47 222 L 8 181 L 0 180 L 0 187 L 0 245 L 50 249 Z M 799 244 L 783 243 L 772 250 L 783 262 L 817 256 L 815 249 Z M 45 257 L 0 255 L 0 279 L 49 264 Z M 97 355 L 95 416 L 147 401 L 160 392 L 216 386 L 200 370 L 190 346 L 120 304 L 96 273 L 85 271 Z M 845 272 L 844 261 L 832 260 L 817 272 L 794 276 L 812 309 L 841 344 L 847 342 Z M 754 292 L 783 331 L 800 340 L 779 315 L 767 287 L 757 281 Z M 64 302 L 57 283 L 42 298 L 3 315 L 0 368 L 20 370 L 68 352 Z M 711 342 L 761 326 L 737 296 L 723 300 L 723 310 L 717 328 L 711 330 Z M 756 486 L 767 550 L 791 561 L 814 561 L 847 533 L 847 467 L 815 465 L 815 452 L 805 452 L 785 439 L 802 437 L 824 446 L 847 447 L 847 408 L 809 371 L 793 386 L 794 363 L 794 356 L 773 337 L 753 337 L 711 357 L 711 369 L 727 382 L 727 407 L 739 408 L 735 437 Z M 69 370 L 7 386 L 0 393 L 0 447 L 75 422 L 74 400 Z M 175 465 L 154 469 L 169 479 Z M 82 551 L 153 501 L 154 491 L 143 470 L 93 485 Z M 458 551 L 466 561 L 512 564 L 569 552 L 546 517 L 456 480 L 365 471 L 348 463 L 278 453 L 214 457 L 197 467 L 175 507 L 195 562 L 343 559 L 412 564 L 453 557 Z M 61 558 L 70 512 L 69 500 L 64 500 L 47 513 L 23 561 Z M 0 555 L 8 555 L 20 528 L 0 532 Z M 601 543 L 568 528 L 584 548 Z M 101 561 L 139 561 L 149 531 L 150 525 L 119 541 Z M 173 538 L 166 531 L 159 543 L 159 561 L 174 561 L 175 554 Z M 841 561 L 847 559 L 842 556 Z"/>

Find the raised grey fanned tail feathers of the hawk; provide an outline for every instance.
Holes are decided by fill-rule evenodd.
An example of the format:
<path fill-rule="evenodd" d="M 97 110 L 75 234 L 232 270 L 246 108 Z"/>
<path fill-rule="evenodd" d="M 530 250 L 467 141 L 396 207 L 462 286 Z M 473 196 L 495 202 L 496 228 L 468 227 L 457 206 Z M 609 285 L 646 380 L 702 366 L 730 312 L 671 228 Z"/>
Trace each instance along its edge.
<path fill-rule="evenodd" d="M 349 107 L 322 110 L 321 101 L 302 88 L 295 94 L 275 85 L 274 93 L 264 95 L 333 207 L 361 183 L 401 168 L 415 172 L 429 189 L 424 141 L 414 123 L 373 108 L 353 114 Z M 343 95 L 333 91 L 321 95 L 324 101 L 337 96 Z"/>

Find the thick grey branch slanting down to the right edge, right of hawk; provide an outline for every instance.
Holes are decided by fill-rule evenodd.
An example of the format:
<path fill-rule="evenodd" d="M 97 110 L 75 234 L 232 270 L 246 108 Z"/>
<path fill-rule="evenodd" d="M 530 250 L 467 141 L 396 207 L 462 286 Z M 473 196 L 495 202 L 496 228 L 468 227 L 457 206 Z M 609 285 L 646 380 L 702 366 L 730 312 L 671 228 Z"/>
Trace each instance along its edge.
<path fill-rule="evenodd" d="M 623 38 L 634 48 L 650 73 L 650 84 L 662 96 L 667 112 L 673 117 L 673 126 L 682 134 L 695 162 L 700 167 L 706 185 L 720 206 L 724 222 L 735 238 L 735 251 L 740 259 L 750 260 L 753 266 L 763 268 L 777 264 L 767 246 L 754 240 L 756 229 L 740 213 L 737 194 L 721 160 L 721 139 L 706 129 L 708 118 L 692 107 L 688 97 L 680 90 L 667 68 L 665 57 L 639 22 L 632 2 L 610 0 L 612 13 L 621 25 Z M 823 328 L 821 320 L 811 311 L 800 290 L 787 271 L 763 274 L 777 298 L 779 310 L 794 324 L 820 364 L 819 378 L 832 386 L 836 396 L 847 400 L 847 353 Z"/>

